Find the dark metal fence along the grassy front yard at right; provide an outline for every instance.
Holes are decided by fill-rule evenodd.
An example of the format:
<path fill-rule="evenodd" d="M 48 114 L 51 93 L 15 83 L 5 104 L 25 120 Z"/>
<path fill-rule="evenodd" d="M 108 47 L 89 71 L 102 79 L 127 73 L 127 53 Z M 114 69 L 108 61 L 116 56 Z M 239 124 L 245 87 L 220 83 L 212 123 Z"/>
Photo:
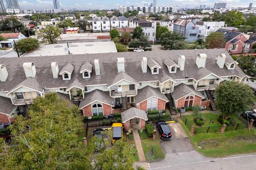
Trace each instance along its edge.
<path fill-rule="evenodd" d="M 181 120 L 184 122 L 184 124 L 186 125 L 186 127 L 188 128 L 188 130 L 191 130 L 191 126 L 195 125 L 194 121 L 188 120 L 188 118 L 186 118 L 186 116 L 181 116 Z M 245 123 L 242 123 L 244 121 L 242 121 L 242 118 L 240 118 L 241 123 L 236 123 L 234 125 L 228 125 L 226 126 L 225 131 L 236 131 L 239 129 L 245 129 L 248 128 L 248 125 Z M 211 121 L 210 121 L 211 122 Z M 214 125 L 211 126 L 210 122 L 205 122 L 205 124 L 209 124 L 208 126 L 204 126 L 204 127 L 195 127 L 194 129 L 194 133 L 208 133 L 208 132 L 220 132 L 222 125 Z"/>

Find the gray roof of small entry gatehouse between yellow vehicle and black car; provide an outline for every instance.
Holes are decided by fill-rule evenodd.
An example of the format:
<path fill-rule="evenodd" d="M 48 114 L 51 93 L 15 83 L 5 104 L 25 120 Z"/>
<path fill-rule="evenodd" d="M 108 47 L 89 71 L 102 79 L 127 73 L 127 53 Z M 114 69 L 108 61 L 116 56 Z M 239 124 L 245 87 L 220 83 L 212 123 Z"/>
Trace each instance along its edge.
<path fill-rule="evenodd" d="M 132 118 L 142 118 L 145 121 L 148 120 L 148 116 L 147 116 L 146 112 L 142 111 L 141 109 L 135 108 L 135 107 L 132 107 L 132 108 L 128 109 L 127 111 L 124 111 L 123 113 L 121 113 L 121 115 L 122 115 L 123 123 L 131 120 Z"/>

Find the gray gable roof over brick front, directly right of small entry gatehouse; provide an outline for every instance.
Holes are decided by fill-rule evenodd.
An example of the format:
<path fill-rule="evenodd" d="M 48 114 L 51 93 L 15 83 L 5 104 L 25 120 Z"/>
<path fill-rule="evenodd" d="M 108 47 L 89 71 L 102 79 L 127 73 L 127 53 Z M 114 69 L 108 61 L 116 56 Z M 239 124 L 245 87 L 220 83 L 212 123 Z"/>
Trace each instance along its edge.
<path fill-rule="evenodd" d="M 153 88 L 150 86 L 146 86 L 145 88 L 138 90 L 138 95 L 135 96 L 135 101 L 138 104 L 152 96 L 163 99 L 165 101 L 169 101 L 167 97 L 161 93 L 159 88 Z"/>

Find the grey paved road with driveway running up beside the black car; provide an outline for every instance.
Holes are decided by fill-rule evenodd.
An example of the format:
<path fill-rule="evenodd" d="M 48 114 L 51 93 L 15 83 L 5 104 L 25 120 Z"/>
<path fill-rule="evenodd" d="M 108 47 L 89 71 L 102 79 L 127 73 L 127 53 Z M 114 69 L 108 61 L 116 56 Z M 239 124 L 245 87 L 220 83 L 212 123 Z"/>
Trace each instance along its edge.
<path fill-rule="evenodd" d="M 218 169 L 256 169 L 256 154 L 226 158 L 208 158 L 199 154 L 191 145 L 186 132 L 179 123 L 170 123 L 173 139 L 162 141 L 165 159 L 150 163 L 149 169 L 175 170 L 218 170 Z"/>

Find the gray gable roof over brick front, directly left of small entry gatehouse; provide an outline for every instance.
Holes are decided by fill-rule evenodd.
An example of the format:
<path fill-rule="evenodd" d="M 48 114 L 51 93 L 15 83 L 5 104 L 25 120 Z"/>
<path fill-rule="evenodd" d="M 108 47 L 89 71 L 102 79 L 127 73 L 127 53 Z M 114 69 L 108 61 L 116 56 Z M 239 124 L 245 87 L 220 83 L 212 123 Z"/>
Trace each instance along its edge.
<path fill-rule="evenodd" d="M 84 99 L 80 102 L 79 108 L 82 109 L 83 107 L 93 103 L 95 100 L 109 105 L 114 104 L 114 99 L 109 96 L 109 91 L 101 91 L 96 89 L 89 94 L 84 94 Z"/>

